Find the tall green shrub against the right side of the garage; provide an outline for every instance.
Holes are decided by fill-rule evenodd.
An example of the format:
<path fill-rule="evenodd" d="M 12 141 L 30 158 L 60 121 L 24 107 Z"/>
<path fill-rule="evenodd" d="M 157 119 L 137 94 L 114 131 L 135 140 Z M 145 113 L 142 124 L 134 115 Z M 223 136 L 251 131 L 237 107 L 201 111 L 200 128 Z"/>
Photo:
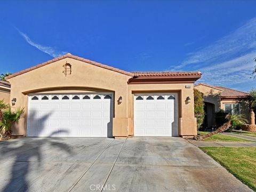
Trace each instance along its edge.
<path fill-rule="evenodd" d="M 204 122 L 204 95 L 197 89 L 194 89 L 194 113 L 196 117 L 197 129 L 201 127 Z"/>

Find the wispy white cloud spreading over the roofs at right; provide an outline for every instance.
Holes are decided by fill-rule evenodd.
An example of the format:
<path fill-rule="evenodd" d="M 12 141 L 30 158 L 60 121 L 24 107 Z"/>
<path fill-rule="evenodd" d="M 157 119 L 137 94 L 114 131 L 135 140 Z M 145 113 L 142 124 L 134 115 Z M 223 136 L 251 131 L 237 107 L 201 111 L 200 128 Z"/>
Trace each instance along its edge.
<path fill-rule="evenodd" d="M 187 54 L 179 66 L 171 70 L 200 70 L 201 82 L 241 87 L 254 83 L 250 78 L 256 57 L 256 18 L 221 37 L 212 44 Z"/>

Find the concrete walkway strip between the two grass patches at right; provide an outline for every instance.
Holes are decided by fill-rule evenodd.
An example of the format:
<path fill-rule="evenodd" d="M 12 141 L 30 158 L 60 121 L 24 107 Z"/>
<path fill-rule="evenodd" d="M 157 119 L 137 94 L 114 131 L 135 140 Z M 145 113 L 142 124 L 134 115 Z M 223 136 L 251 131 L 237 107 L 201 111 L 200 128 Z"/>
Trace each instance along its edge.
<path fill-rule="evenodd" d="M 256 142 L 196 141 L 188 139 L 196 147 L 256 147 Z"/>

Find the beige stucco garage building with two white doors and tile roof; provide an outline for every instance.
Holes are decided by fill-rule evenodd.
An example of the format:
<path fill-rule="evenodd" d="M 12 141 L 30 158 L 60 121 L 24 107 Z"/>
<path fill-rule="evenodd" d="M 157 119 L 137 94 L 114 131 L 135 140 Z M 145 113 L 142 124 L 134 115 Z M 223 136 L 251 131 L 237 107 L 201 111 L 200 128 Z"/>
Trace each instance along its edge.
<path fill-rule="evenodd" d="M 200 72 L 127 72 L 70 53 L 6 77 L 27 137 L 196 135 Z M 11 101 L 10 101 L 11 102 Z"/>

